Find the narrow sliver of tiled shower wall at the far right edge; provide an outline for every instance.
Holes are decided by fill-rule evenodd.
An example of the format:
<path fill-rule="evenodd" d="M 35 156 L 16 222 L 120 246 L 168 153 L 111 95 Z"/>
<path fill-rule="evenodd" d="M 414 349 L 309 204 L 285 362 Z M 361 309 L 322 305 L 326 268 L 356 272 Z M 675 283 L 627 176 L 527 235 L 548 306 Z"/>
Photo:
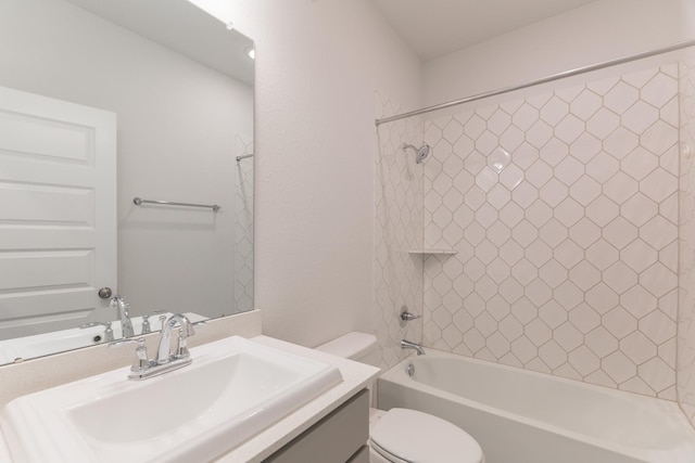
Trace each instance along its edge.
<path fill-rule="evenodd" d="M 679 63 L 680 93 L 680 261 L 678 318 L 678 399 L 695 424 L 695 61 Z"/>

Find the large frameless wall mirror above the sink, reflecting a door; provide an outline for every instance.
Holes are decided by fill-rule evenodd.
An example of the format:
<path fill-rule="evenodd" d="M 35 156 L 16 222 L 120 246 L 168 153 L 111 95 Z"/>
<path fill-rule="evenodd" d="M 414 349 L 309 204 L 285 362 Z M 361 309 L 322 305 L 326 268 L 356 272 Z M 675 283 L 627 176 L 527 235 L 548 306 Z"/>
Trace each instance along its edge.
<path fill-rule="evenodd" d="M 0 2 L 0 363 L 253 308 L 251 49 L 186 0 Z"/>

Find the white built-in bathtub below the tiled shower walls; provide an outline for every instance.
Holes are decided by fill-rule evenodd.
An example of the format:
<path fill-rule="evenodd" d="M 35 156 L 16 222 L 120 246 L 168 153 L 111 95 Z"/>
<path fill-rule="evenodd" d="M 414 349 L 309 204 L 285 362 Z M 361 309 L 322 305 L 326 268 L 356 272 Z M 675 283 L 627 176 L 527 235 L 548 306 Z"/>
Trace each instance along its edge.
<path fill-rule="evenodd" d="M 432 349 L 381 375 L 377 399 L 460 426 L 486 463 L 695 463 L 675 402 Z"/>

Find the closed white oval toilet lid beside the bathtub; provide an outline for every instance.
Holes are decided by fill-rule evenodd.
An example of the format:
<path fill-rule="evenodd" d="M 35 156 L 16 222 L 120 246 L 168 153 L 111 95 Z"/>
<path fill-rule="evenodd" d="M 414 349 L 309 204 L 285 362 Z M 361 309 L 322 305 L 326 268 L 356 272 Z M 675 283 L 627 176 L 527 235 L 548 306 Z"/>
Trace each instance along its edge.
<path fill-rule="evenodd" d="M 478 442 L 447 421 L 407 409 L 391 409 L 371 429 L 372 442 L 413 463 L 480 463 Z"/>

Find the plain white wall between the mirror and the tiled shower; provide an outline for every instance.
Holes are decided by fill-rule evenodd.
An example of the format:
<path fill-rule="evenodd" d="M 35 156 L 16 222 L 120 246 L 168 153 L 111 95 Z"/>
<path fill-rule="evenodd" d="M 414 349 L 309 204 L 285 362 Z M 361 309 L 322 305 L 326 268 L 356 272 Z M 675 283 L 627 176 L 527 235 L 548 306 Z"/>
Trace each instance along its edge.
<path fill-rule="evenodd" d="M 207 0 L 256 43 L 255 305 L 315 346 L 371 330 L 374 91 L 419 105 L 420 65 L 367 0 Z"/>

